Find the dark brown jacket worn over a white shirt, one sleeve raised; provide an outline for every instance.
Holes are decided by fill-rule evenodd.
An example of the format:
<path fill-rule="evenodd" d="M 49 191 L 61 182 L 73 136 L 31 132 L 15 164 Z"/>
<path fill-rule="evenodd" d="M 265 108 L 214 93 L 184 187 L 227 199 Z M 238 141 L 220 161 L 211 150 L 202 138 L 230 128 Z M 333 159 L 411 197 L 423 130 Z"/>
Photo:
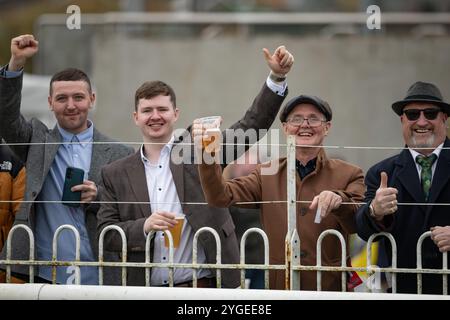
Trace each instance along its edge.
<path fill-rule="evenodd" d="M 230 129 L 268 129 L 275 119 L 284 97 L 273 93 L 266 85 L 263 86 L 258 96 L 255 98 L 252 107 L 247 110 L 245 116 L 236 122 Z M 223 135 L 225 138 L 225 134 Z M 172 149 L 174 153 L 180 153 L 181 141 L 189 140 L 189 130 L 185 131 L 182 137 L 175 138 L 175 145 Z M 231 148 L 233 159 L 240 156 L 245 150 L 238 150 L 234 146 Z M 182 148 L 181 148 L 182 149 Z M 204 203 L 205 198 L 198 177 L 197 166 L 194 164 L 194 151 L 184 156 L 184 162 L 180 164 L 171 163 L 171 171 L 178 192 L 180 201 Z M 245 148 L 247 149 L 247 148 Z M 231 150 L 230 150 L 231 151 Z M 224 152 L 224 155 L 226 152 Z M 171 158 L 172 159 L 172 158 Z M 128 260 L 144 261 L 145 237 L 144 221 L 151 214 L 148 202 L 147 182 L 145 179 L 144 165 L 140 159 L 140 154 L 136 154 L 112 163 L 102 170 L 102 179 L 105 192 L 102 200 L 109 203 L 102 203 L 98 212 L 97 234 L 108 225 L 120 226 L 127 236 Z M 111 202 L 147 202 L 147 204 L 128 204 Z M 150 204 L 151 205 L 151 204 Z M 228 209 L 211 208 L 207 205 L 186 205 L 182 204 L 186 220 L 191 225 L 194 232 L 204 226 L 214 228 L 220 236 L 222 244 L 222 263 L 239 263 L 239 247 L 234 232 L 233 220 Z M 210 233 L 203 233 L 199 241 L 205 248 L 208 263 L 216 263 L 216 244 L 214 237 Z M 153 244 L 153 242 L 152 242 Z M 117 232 L 110 231 L 105 237 L 105 247 L 109 250 L 120 252 L 122 241 Z M 153 252 L 153 245 L 150 248 Z M 145 270 L 142 268 L 128 269 L 129 285 L 145 285 Z M 239 271 L 222 270 L 222 282 L 225 287 L 237 287 L 239 285 Z"/>

